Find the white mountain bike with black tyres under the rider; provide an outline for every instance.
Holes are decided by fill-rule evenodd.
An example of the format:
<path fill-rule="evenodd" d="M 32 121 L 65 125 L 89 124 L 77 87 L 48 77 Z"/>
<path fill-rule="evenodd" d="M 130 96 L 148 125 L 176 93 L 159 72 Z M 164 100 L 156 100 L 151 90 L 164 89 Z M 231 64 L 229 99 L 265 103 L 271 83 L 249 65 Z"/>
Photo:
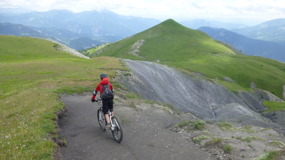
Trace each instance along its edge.
<path fill-rule="evenodd" d="M 107 124 L 107 121 L 104 113 L 102 112 L 102 105 L 100 104 L 100 100 L 101 99 L 95 99 L 95 102 L 98 102 L 98 104 L 101 106 L 97 111 L 97 118 L 100 128 L 105 131 L 106 130 L 105 126 Z M 113 137 L 119 143 L 123 139 L 123 128 L 121 122 L 118 117 L 111 115 L 110 110 L 108 110 L 108 115 L 110 118 L 110 123 L 111 123 L 110 128 L 112 130 Z"/>

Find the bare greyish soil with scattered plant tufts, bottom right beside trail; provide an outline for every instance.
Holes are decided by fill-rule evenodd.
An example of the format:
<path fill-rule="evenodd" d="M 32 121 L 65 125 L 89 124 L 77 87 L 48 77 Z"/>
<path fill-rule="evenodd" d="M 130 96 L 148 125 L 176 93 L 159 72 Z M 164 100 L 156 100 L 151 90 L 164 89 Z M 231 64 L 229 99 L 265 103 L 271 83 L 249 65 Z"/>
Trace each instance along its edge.
<path fill-rule="evenodd" d="M 201 125 L 202 129 L 197 129 L 194 127 L 196 122 L 190 120 L 186 126 L 175 126 L 171 130 L 181 133 L 190 143 L 211 153 L 216 159 L 250 160 L 269 151 L 280 151 L 282 154 L 279 154 L 279 159 L 285 159 L 284 136 L 271 128 L 241 126 L 227 122 L 220 122 L 217 125 L 207 121 Z M 232 127 L 220 127 L 223 124 Z"/>

